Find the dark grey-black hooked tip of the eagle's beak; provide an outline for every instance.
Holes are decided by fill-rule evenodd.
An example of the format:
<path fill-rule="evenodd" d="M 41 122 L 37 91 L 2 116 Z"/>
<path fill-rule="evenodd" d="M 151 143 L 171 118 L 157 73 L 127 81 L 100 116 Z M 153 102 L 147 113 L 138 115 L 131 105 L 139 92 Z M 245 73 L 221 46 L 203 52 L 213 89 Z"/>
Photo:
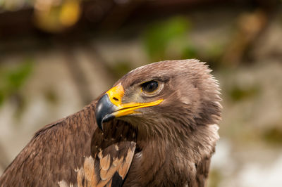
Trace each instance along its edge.
<path fill-rule="evenodd" d="M 114 119 L 115 116 L 111 113 L 115 110 L 116 106 L 111 103 L 108 94 L 99 99 L 95 109 L 95 117 L 99 129 L 103 131 L 103 123 Z"/>

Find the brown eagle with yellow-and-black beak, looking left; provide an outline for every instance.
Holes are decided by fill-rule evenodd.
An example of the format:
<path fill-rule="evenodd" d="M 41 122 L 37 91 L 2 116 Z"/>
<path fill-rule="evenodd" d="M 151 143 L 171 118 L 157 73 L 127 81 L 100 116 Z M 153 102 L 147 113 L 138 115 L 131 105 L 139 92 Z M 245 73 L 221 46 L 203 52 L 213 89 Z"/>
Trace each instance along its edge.
<path fill-rule="evenodd" d="M 35 133 L 0 186 L 205 186 L 221 98 L 199 60 L 151 63 Z"/>

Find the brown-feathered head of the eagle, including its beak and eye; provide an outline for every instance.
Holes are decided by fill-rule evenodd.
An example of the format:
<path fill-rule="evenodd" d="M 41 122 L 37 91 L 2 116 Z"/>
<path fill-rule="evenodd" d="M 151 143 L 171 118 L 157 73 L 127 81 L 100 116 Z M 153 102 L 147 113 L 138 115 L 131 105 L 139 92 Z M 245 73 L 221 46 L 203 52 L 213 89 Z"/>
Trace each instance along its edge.
<path fill-rule="evenodd" d="M 217 124 L 219 86 L 199 60 L 168 60 L 138 67 L 114 84 L 96 107 L 98 127 L 124 120 L 154 134 Z"/>

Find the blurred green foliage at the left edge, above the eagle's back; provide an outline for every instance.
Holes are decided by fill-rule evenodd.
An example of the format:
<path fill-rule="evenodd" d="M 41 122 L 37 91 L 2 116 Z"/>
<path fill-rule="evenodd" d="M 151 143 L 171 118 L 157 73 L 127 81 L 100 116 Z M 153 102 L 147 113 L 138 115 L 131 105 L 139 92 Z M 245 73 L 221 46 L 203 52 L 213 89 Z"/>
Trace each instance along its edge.
<path fill-rule="evenodd" d="M 0 69 L 0 105 L 6 98 L 13 96 L 23 86 L 31 74 L 33 61 L 26 59 L 15 67 L 1 67 Z"/>

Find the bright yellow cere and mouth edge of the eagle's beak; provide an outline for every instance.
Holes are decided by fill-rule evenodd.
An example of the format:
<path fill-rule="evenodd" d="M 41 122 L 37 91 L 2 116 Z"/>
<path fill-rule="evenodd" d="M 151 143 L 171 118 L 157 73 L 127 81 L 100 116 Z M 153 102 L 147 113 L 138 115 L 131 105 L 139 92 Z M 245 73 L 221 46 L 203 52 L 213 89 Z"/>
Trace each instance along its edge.
<path fill-rule="evenodd" d="M 161 103 L 162 101 L 164 101 L 164 99 L 159 99 L 157 101 L 152 101 L 149 103 L 125 103 L 122 104 L 122 98 L 124 95 L 124 89 L 123 86 L 121 84 L 118 84 L 117 86 L 114 86 L 113 88 L 111 88 L 109 91 L 106 92 L 109 96 L 109 99 L 111 101 L 111 103 L 113 103 L 114 105 L 116 105 L 118 107 L 118 110 L 116 110 L 116 112 L 113 113 L 113 115 L 115 117 L 121 117 L 124 115 L 130 115 L 133 113 L 137 113 L 136 109 L 138 108 L 145 108 L 145 107 L 150 107 L 150 106 L 154 106 L 154 105 L 159 105 L 159 103 Z"/>

